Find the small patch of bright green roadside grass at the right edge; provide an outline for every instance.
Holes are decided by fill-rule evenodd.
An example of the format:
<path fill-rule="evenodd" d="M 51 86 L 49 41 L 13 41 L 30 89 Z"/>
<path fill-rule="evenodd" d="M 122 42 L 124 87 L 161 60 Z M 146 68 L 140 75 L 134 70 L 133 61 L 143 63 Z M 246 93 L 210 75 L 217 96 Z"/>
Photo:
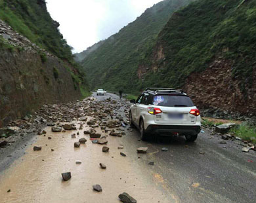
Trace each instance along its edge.
<path fill-rule="evenodd" d="M 247 125 L 240 125 L 237 128 L 233 128 L 230 132 L 234 133 L 237 137 L 247 141 L 251 141 L 256 144 L 256 128 Z"/>

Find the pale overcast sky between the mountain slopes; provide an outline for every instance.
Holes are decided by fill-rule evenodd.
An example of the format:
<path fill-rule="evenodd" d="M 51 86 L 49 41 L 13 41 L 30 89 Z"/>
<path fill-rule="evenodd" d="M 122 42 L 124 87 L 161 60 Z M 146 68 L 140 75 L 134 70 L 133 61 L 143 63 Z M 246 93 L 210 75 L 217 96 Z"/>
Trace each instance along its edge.
<path fill-rule="evenodd" d="M 81 52 L 117 33 L 160 1 L 47 0 L 47 8 L 53 20 L 60 23 L 60 32 L 74 52 Z"/>

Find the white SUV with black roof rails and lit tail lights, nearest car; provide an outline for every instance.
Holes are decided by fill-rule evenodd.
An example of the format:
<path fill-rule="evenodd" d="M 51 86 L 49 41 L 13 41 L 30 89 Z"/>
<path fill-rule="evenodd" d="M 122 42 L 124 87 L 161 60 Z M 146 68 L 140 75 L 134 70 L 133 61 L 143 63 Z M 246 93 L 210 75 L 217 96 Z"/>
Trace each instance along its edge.
<path fill-rule="evenodd" d="M 182 90 L 147 88 L 130 102 L 129 122 L 139 128 L 142 140 L 148 134 L 185 136 L 187 141 L 198 138 L 200 111 Z"/>

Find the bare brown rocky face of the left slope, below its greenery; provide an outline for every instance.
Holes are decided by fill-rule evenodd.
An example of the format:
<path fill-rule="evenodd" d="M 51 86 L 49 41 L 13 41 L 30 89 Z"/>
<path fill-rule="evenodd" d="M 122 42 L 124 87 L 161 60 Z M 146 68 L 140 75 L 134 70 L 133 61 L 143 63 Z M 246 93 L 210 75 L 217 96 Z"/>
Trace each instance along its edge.
<path fill-rule="evenodd" d="M 49 15 L 46 7 L 39 4 L 37 9 Z M 12 12 L 18 13 L 15 9 Z M 81 90 L 86 93 L 86 81 L 71 55 L 58 55 L 49 46 L 33 43 L 28 37 L 0 20 L 0 127 L 36 111 L 44 103 L 77 100 L 82 98 Z M 38 38 L 43 39 L 43 35 Z M 70 48 L 68 50 L 71 53 Z"/>

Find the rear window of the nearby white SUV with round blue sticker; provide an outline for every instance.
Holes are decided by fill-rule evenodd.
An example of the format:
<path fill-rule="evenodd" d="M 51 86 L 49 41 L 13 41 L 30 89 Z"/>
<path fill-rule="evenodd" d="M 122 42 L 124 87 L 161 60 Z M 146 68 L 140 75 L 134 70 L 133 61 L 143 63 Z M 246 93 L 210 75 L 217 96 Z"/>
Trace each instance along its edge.
<path fill-rule="evenodd" d="M 156 95 L 153 105 L 163 107 L 194 107 L 194 103 L 188 96 L 182 95 Z"/>

